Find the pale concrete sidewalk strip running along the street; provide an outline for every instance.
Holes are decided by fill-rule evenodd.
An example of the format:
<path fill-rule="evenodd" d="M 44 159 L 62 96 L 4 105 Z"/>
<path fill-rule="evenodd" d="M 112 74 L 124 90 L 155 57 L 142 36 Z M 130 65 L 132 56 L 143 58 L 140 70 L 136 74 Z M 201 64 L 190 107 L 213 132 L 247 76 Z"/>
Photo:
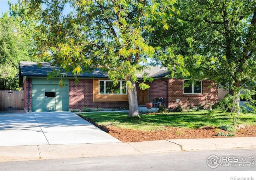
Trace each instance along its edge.
<path fill-rule="evenodd" d="M 174 139 L 147 142 L 0 146 L 0 162 L 123 156 L 192 150 L 256 148 L 256 137 Z"/>

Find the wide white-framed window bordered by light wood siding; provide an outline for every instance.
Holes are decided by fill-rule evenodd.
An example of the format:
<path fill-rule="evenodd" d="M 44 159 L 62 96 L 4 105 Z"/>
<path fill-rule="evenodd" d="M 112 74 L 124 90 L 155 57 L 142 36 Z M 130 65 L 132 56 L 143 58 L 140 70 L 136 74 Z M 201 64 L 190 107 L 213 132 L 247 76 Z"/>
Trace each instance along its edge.
<path fill-rule="evenodd" d="M 126 82 L 118 81 L 117 85 L 114 86 L 113 81 L 100 80 L 99 93 L 100 94 L 126 94 Z"/>

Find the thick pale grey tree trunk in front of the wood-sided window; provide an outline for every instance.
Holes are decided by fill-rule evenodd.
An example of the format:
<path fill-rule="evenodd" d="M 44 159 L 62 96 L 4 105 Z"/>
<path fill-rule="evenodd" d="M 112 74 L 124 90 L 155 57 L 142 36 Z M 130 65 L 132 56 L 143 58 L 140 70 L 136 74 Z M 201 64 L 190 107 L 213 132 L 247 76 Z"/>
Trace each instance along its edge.
<path fill-rule="evenodd" d="M 133 89 L 128 88 L 128 102 L 129 102 L 129 116 L 131 117 L 140 117 L 138 111 L 138 99 L 137 99 L 137 90 L 136 82 L 132 82 Z"/>

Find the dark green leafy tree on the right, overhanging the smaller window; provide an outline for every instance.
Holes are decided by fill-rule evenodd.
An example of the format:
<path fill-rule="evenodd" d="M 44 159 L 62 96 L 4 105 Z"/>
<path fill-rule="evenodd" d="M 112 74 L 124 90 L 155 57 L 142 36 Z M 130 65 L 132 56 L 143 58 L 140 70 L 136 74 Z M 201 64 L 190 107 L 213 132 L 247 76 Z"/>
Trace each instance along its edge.
<path fill-rule="evenodd" d="M 178 1 L 168 29 L 156 26 L 150 45 L 165 54 L 162 65 L 172 75 L 212 79 L 232 96 L 236 110 L 239 97 L 251 99 L 256 81 L 256 2 Z M 165 48 L 163 48 L 165 47 Z M 182 74 L 181 74 L 182 73 Z M 246 86 L 252 91 L 246 91 Z M 246 93 L 241 95 L 240 92 Z M 231 97 L 230 96 L 230 97 Z"/>

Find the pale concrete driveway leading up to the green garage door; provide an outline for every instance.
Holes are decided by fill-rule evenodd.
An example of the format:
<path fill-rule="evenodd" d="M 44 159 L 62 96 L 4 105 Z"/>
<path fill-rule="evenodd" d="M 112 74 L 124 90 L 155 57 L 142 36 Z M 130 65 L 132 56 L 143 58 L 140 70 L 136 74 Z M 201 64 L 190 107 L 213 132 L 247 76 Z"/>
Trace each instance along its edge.
<path fill-rule="evenodd" d="M 70 112 L 0 113 L 0 146 L 121 142 Z"/>

